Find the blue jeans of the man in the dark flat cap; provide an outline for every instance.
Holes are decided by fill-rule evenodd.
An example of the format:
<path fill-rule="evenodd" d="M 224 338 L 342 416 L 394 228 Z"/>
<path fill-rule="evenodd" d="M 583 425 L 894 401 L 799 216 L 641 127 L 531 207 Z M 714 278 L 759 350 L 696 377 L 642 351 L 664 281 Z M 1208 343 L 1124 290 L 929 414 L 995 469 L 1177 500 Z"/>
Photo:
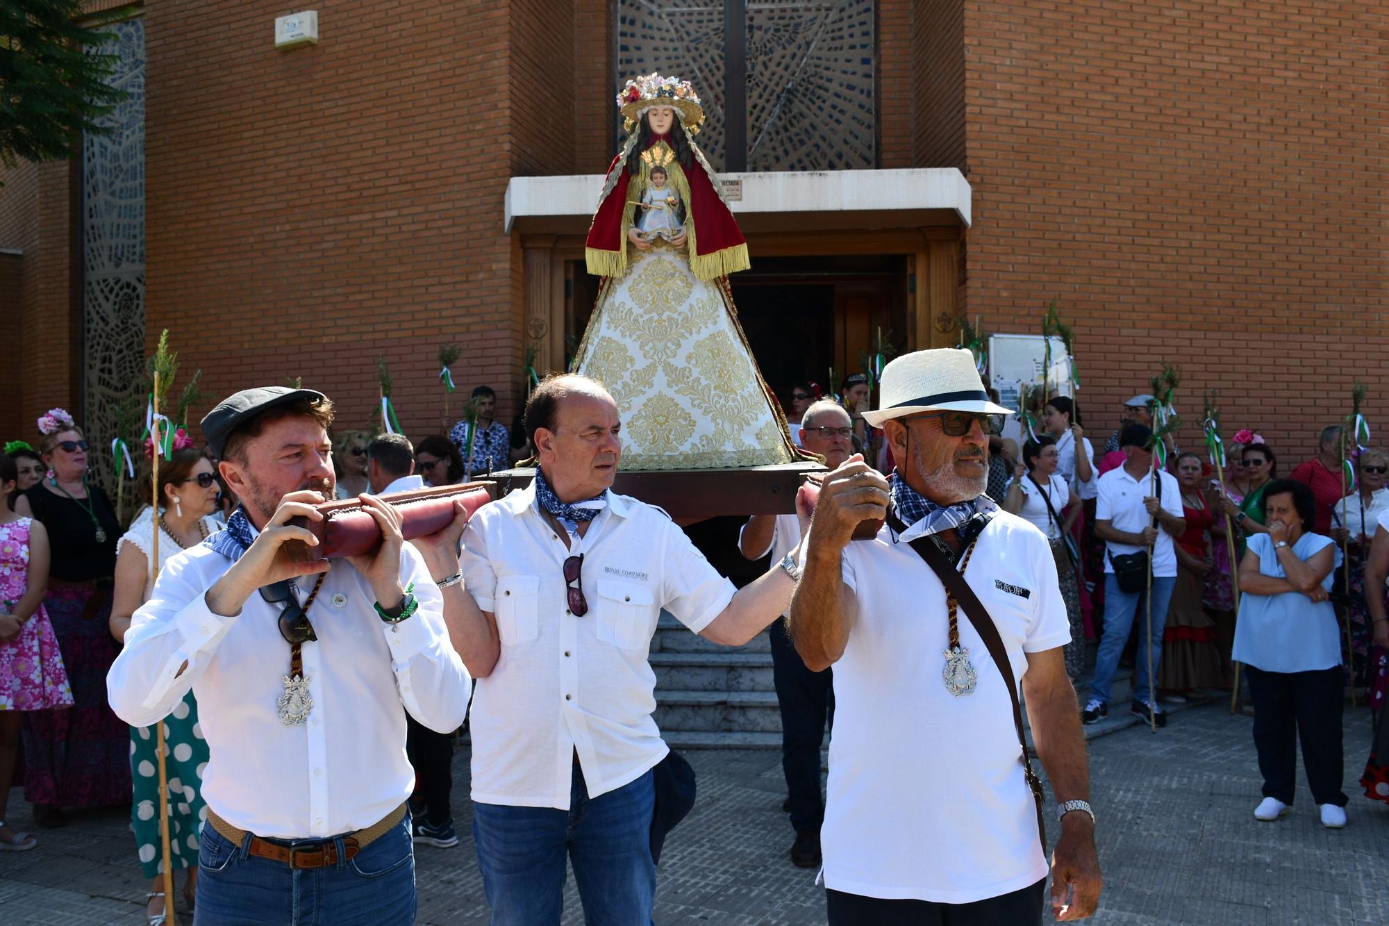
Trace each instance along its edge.
<path fill-rule="evenodd" d="M 194 926 L 242 923 L 363 926 L 415 922 L 415 855 L 410 815 L 369 843 L 350 861 L 314 869 L 249 855 L 251 837 L 240 845 L 203 826 L 197 855 Z M 313 848 L 333 840 L 269 840 Z"/>

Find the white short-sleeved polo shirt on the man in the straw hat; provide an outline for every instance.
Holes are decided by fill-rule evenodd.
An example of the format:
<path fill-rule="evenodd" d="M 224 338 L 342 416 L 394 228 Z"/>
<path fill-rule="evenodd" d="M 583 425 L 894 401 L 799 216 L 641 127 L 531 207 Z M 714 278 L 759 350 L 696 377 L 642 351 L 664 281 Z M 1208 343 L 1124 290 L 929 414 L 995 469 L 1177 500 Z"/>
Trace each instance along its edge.
<path fill-rule="evenodd" d="M 942 679 L 946 594 L 883 527 L 845 549 L 858 617 L 835 663 L 835 730 L 821 848 L 825 886 L 865 897 L 968 904 L 1035 884 L 1047 862 L 1020 762 L 1008 688 L 964 610 L 978 673 L 964 697 Z M 1046 537 L 997 512 L 964 573 L 1021 688 L 1026 653 L 1071 640 Z"/>

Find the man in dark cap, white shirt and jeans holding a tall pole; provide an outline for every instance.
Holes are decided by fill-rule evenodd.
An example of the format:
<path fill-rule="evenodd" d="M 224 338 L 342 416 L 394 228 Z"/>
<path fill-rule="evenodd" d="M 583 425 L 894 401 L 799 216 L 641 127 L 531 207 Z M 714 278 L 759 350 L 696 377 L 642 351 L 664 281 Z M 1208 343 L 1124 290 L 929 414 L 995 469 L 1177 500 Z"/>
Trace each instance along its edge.
<path fill-rule="evenodd" d="M 1115 563 L 1124 566 L 1136 553 L 1151 558 L 1153 598 L 1151 622 L 1145 616 L 1135 655 L 1133 704 L 1131 712 L 1145 723 L 1167 724 L 1167 715 L 1149 698 L 1149 683 L 1156 677 L 1163 658 L 1163 624 L 1167 605 L 1176 587 L 1176 552 L 1172 538 L 1186 531 L 1182 516 L 1182 489 L 1171 473 L 1153 470 L 1153 431 L 1129 423 L 1120 434 L 1124 466 L 1100 477 L 1100 492 L 1095 502 L 1095 535 L 1104 541 L 1104 633 L 1095 656 L 1095 681 L 1090 701 L 1081 719 L 1095 723 L 1110 713 L 1110 687 L 1120 665 L 1120 653 L 1128 642 L 1129 631 L 1140 608 L 1147 606 L 1146 569 L 1131 580 L 1132 591 L 1124 591 L 1124 580 L 1115 573 Z M 1147 637 L 1147 648 L 1143 638 Z M 1151 673 L 1151 674 L 1150 674 Z"/>

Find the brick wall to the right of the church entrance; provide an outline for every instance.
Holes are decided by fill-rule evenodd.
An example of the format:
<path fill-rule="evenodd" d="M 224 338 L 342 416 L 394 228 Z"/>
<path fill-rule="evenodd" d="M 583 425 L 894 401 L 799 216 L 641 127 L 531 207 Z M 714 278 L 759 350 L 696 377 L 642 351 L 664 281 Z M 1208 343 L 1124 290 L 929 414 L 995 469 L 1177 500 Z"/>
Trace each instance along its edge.
<path fill-rule="evenodd" d="M 1038 331 L 1058 299 L 1097 435 L 1163 359 L 1186 445 L 1214 388 L 1228 431 L 1296 462 L 1356 377 L 1386 434 L 1381 25 L 1349 1 L 968 0 L 970 311 Z"/>

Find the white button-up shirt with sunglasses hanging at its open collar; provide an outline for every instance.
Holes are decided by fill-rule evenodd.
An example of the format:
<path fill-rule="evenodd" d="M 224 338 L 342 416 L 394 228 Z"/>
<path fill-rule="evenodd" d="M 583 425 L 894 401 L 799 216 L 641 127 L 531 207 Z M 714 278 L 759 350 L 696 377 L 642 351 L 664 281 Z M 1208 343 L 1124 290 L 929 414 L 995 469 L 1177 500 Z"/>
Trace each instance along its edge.
<path fill-rule="evenodd" d="M 657 507 L 607 492 L 571 551 L 533 484 L 486 505 L 463 535 L 465 588 L 496 616 L 501 656 L 472 701 L 472 799 L 567 811 L 574 756 L 590 797 L 669 751 L 647 660 L 661 609 L 699 633 L 733 584 Z M 588 613 L 569 613 L 564 560 L 583 556 Z"/>

